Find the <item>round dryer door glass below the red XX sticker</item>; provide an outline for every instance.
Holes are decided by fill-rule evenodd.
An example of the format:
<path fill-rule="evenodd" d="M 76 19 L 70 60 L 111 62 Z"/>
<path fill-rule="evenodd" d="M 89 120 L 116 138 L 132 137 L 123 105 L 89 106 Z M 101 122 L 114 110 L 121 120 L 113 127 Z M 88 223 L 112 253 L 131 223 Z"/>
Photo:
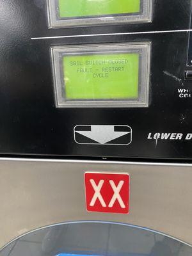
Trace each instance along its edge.
<path fill-rule="evenodd" d="M 0 256 L 189 256 L 192 248 L 172 237 L 123 223 L 84 221 L 54 225 L 5 246 Z"/>

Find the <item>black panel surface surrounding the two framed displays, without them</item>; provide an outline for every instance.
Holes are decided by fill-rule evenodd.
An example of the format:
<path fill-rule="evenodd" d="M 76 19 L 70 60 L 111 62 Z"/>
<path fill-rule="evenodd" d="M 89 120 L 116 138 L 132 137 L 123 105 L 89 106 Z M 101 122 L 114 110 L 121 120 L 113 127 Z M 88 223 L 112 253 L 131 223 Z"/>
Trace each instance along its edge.
<path fill-rule="evenodd" d="M 152 1 L 151 22 L 49 28 L 47 13 L 0 0 L 0 154 L 192 159 L 191 1 Z M 146 104 L 58 106 L 54 49 L 143 44 Z"/>

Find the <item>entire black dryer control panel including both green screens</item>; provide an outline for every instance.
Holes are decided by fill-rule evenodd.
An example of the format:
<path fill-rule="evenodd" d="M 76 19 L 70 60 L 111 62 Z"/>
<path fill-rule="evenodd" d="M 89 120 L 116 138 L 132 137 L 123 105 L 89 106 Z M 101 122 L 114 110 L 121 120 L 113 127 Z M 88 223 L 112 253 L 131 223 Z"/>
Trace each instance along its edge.
<path fill-rule="evenodd" d="M 0 154 L 191 159 L 190 0 L 0 0 Z"/>

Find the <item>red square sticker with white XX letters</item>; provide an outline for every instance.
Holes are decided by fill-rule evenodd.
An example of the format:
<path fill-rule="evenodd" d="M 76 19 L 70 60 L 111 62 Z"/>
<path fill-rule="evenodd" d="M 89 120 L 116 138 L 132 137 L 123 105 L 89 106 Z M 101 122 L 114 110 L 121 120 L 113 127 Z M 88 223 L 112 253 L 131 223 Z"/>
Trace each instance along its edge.
<path fill-rule="evenodd" d="M 86 209 L 89 212 L 129 213 L 129 174 L 84 174 Z"/>

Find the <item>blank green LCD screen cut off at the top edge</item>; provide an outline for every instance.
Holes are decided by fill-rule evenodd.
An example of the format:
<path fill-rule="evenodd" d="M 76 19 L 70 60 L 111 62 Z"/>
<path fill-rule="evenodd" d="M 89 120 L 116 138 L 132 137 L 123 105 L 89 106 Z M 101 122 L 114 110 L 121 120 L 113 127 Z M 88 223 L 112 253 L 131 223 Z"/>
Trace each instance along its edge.
<path fill-rule="evenodd" d="M 141 0 L 58 0 L 60 18 L 140 13 Z"/>

